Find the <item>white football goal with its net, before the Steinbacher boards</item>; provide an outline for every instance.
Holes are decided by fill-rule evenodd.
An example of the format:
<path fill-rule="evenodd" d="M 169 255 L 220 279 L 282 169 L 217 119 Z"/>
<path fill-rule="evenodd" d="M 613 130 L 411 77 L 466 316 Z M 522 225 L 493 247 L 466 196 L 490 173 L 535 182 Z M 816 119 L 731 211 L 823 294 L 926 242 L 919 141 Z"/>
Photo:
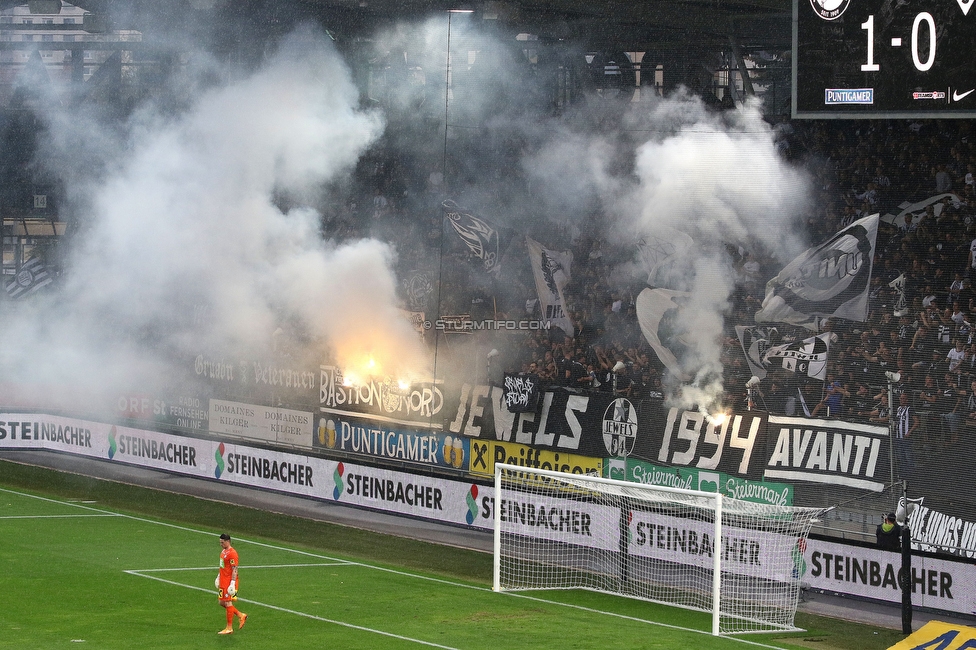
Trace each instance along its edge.
<path fill-rule="evenodd" d="M 819 508 L 495 465 L 495 591 L 589 589 L 701 610 L 713 634 L 795 630 Z"/>

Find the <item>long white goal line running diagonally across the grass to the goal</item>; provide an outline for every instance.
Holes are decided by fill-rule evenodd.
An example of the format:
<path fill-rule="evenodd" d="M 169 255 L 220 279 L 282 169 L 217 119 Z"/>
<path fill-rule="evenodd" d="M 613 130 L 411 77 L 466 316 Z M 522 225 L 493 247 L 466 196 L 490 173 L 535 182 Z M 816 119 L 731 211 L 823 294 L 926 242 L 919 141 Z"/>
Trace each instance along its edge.
<path fill-rule="evenodd" d="M 76 507 L 76 508 L 84 508 L 85 510 L 92 510 L 92 511 L 95 511 L 95 512 L 102 512 L 102 513 L 114 514 L 114 515 L 117 515 L 119 517 L 125 517 L 126 519 L 132 519 L 134 521 L 141 521 L 141 522 L 145 522 L 145 523 L 148 523 L 148 524 L 156 524 L 157 526 L 166 526 L 168 528 L 175 528 L 176 530 L 182 530 L 182 531 L 186 531 L 186 532 L 190 532 L 190 533 L 196 533 L 196 534 L 199 534 L 199 535 L 208 535 L 208 536 L 212 536 L 213 535 L 213 533 L 210 532 L 210 531 L 200 530 L 198 528 L 189 528 L 187 526 L 180 526 L 178 524 L 170 524 L 170 523 L 167 523 L 165 521 L 156 521 L 156 520 L 153 520 L 153 519 L 146 519 L 144 517 L 136 517 L 134 515 L 127 515 L 127 514 L 122 514 L 122 513 L 112 513 L 109 510 L 101 510 L 99 508 L 92 508 L 92 507 L 89 507 L 89 506 L 83 506 L 83 505 L 79 505 L 77 503 L 68 503 L 68 502 L 65 502 L 65 501 L 57 501 L 55 499 L 49 499 L 47 497 L 41 497 L 41 496 L 37 496 L 37 495 L 34 495 L 34 494 L 27 494 L 27 493 L 24 493 L 24 492 L 17 492 L 16 490 L 9 490 L 7 488 L 0 488 L 0 492 L 8 492 L 10 494 L 16 494 L 16 495 L 22 496 L 22 497 L 31 497 L 31 498 L 34 498 L 34 499 L 40 499 L 41 501 L 47 501 L 47 502 L 50 502 L 50 503 L 58 503 L 58 504 L 61 504 L 61 505 L 69 505 L 69 506 L 73 506 L 73 507 Z M 285 546 L 276 546 L 274 544 L 266 544 L 264 542 L 251 541 L 251 540 L 247 540 L 247 539 L 244 539 L 244 538 L 241 538 L 241 537 L 236 537 L 235 539 L 237 541 L 239 541 L 239 542 L 244 542 L 244 543 L 247 543 L 247 544 L 253 544 L 255 546 L 261 546 L 261 547 L 269 548 L 269 549 L 272 549 L 272 550 L 286 551 L 286 552 L 289 552 L 289 553 L 297 553 L 298 555 L 306 555 L 308 557 L 319 558 L 319 559 L 322 559 L 322 560 L 332 560 L 334 562 L 344 562 L 344 563 L 349 564 L 351 566 L 361 566 L 361 567 L 366 568 L 366 569 L 373 569 L 375 571 L 384 571 L 386 573 L 392 573 L 394 575 L 401 575 L 401 576 L 405 576 L 405 577 L 409 577 L 409 578 L 415 578 L 415 579 L 418 579 L 418 580 L 426 580 L 428 582 L 436 582 L 436 583 L 439 583 L 439 584 L 453 586 L 453 587 L 459 587 L 459 588 L 462 588 L 462 589 L 473 589 L 475 591 L 484 591 L 484 592 L 488 592 L 488 593 L 493 593 L 493 590 L 491 589 L 491 587 L 479 587 L 477 585 L 468 585 L 468 584 L 464 584 L 462 582 L 453 582 L 451 580 L 445 580 L 443 578 L 433 578 L 433 577 L 430 577 L 430 576 L 417 575 L 415 573 L 407 573 L 406 571 L 399 571 L 397 569 L 388 569 L 386 567 L 374 566 L 372 564 L 365 564 L 365 563 L 362 563 L 362 562 L 346 561 L 346 560 L 342 560 L 341 558 L 330 557 L 328 555 L 319 555 L 317 553 L 312 553 L 310 551 L 302 551 L 302 550 L 299 550 L 299 549 L 288 548 L 288 547 L 285 547 Z M 212 568 L 212 567 L 208 567 L 208 568 Z M 143 577 L 144 578 L 153 578 L 152 576 L 143 576 Z M 161 580 L 160 578 L 153 578 L 153 579 L 154 580 Z M 174 583 L 174 584 L 176 584 L 176 583 Z M 194 589 L 200 589 L 199 587 L 193 587 L 193 588 Z M 209 590 L 207 590 L 207 589 L 201 589 L 201 591 L 209 591 Z M 646 623 L 647 625 L 656 625 L 658 627 L 664 627 L 664 628 L 673 629 L 673 630 L 680 630 L 680 631 L 683 631 L 683 632 L 692 632 L 692 633 L 695 633 L 695 634 L 703 634 L 703 635 L 711 636 L 711 633 L 710 632 L 705 632 L 703 630 L 696 630 L 696 629 L 690 628 L 690 627 L 678 627 L 678 626 L 675 626 L 675 625 L 669 625 L 668 623 L 659 623 L 657 621 L 649 621 L 649 620 L 643 619 L 643 618 L 634 618 L 634 617 L 626 616 L 626 615 L 623 615 L 623 614 L 617 614 L 615 612 L 605 612 L 605 611 L 598 610 L 598 609 L 590 609 L 590 608 L 583 607 L 581 605 L 571 605 L 569 603 L 561 603 L 561 602 L 554 601 L 554 600 L 544 600 L 542 598 L 537 598 L 537 597 L 534 597 L 534 596 L 526 596 L 524 594 L 517 594 L 517 593 L 512 593 L 512 592 L 502 592 L 502 594 L 503 595 L 506 595 L 506 596 L 512 596 L 514 598 L 525 598 L 525 599 L 528 599 L 528 600 L 537 600 L 539 602 L 544 602 L 544 603 L 548 603 L 550 605 L 556 605 L 556 606 L 559 606 L 559 607 L 568 607 L 570 609 L 578 609 L 578 610 L 590 611 L 590 612 L 593 612 L 593 613 L 596 613 L 596 614 L 603 614 L 603 615 L 611 616 L 611 617 L 614 617 L 614 618 L 629 619 L 629 620 L 633 620 L 633 621 L 636 621 L 636 622 Z M 269 605 L 269 607 L 271 607 L 271 606 Z M 764 644 L 758 643 L 756 641 L 749 641 L 748 639 L 741 639 L 741 638 L 738 638 L 738 637 L 735 637 L 735 636 L 725 636 L 725 637 L 722 637 L 722 638 L 723 639 L 727 639 L 729 641 L 735 641 L 737 643 L 742 643 L 742 644 L 745 644 L 745 645 L 758 646 L 758 647 L 761 647 L 761 648 L 770 648 L 772 650 L 782 650 L 782 647 L 781 646 L 764 645 Z"/>

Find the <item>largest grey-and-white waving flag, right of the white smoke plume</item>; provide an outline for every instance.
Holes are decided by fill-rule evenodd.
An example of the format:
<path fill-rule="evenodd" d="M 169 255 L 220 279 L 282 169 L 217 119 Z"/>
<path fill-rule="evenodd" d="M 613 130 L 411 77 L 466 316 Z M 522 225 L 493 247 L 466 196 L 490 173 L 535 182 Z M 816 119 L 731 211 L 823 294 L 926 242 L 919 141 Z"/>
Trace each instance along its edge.
<path fill-rule="evenodd" d="M 878 221 L 877 214 L 858 219 L 787 264 L 766 283 L 756 322 L 802 324 L 814 316 L 867 320 Z"/>

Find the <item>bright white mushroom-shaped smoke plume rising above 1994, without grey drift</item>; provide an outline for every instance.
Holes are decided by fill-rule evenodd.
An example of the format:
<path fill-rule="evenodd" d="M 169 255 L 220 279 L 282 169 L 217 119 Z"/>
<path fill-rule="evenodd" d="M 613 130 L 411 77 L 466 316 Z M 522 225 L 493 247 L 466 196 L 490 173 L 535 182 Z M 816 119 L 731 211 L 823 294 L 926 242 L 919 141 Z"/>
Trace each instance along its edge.
<path fill-rule="evenodd" d="M 722 390 L 723 325 L 737 273 L 725 246 L 759 246 L 788 255 L 799 250 L 796 228 L 804 217 L 808 181 L 776 149 L 773 129 L 758 104 L 721 115 L 681 94 L 662 102 L 650 121 L 669 128 L 636 152 L 638 186 L 623 232 L 667 236 L 671 228 L 690 235 L 675 267 L 683 271 L 673 288 L 688 292 L 678 327 L 688 344 L 680 359 L 690 386 L 684 406 L 716 407 Z"/>

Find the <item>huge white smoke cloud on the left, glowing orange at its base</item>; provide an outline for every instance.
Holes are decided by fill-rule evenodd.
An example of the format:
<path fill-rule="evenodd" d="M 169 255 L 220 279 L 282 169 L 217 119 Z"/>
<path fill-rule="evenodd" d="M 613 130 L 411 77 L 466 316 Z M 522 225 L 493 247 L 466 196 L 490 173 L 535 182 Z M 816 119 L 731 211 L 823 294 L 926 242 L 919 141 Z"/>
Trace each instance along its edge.
<path fill-rule="evenodd" d="M 334 244 L 314 209 L 279 207 L 347 174 L 380 135 L 382 117 L 357 104 L 341 58 L 306 30 L 175 115 L 142 107 L 124 135 L 54 121 L 58 159 L 100 173 L 64 174 L 84 233 L 58 295 L 7 324 L 5 372 L 140 386 L 200 352 L 268 350 L 283 324 L 340 364 L 421 372 L 390 246 Z"/>

